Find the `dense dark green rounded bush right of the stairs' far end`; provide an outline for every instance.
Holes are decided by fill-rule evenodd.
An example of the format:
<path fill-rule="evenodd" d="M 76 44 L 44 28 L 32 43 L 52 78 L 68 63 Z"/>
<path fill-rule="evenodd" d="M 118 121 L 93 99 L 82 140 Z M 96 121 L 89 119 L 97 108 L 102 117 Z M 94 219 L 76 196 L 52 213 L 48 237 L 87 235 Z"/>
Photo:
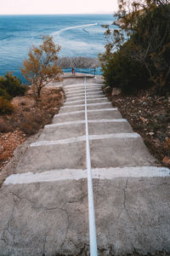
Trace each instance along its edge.
<path fill-rule="evenodd" d="M 150 87 L 149 73 L 137 61 L 129 58 L 131 44 L 124 44 L 121 49 L 102 66 L 105 83 L 122 89 L 124 94 L 136 94 L 139 90 Z"/>

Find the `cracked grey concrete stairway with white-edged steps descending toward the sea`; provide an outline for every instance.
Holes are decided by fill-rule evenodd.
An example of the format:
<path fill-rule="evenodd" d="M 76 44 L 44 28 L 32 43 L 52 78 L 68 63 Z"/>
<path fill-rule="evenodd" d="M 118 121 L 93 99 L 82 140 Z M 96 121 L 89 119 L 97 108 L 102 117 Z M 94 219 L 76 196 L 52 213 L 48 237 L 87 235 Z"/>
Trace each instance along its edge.
<path fill-rule="evenodd" d="M 1 188 L 0 255 L 88 255 L 85 90 L 65 81 L 64 106 Z M 87 80 L 99 255 L 169 253 L 169 169 L 101 86 Z"/>

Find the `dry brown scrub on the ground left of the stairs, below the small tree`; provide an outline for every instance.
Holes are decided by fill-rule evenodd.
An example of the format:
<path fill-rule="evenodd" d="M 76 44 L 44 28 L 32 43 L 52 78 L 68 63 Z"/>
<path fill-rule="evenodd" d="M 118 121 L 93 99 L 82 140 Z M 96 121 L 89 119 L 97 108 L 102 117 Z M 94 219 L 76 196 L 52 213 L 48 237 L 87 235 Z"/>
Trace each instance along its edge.
<path fill-rule="evenodd" d="M 62 94 L 60 93 L 62 91 Z M 18 129 L 27 136 L 35 134 L 43 125 L 49 124 L 63 102 L 62 89 L 42 90 L 41 99 L 37 106 L 31 93 L 27 96 L 15 97 L 13 100 L 14 113 L 0 117 L 0 131 L 14 131 Z"/>

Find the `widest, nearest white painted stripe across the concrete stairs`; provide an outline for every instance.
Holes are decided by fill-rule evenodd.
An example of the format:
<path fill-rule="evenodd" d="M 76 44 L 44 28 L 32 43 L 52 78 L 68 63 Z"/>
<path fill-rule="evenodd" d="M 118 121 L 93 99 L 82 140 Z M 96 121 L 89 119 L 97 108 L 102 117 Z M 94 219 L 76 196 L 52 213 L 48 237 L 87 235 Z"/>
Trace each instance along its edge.
<path fill-rule="evenodd" d="M 128 166 L 96 168 L 92 169 L 92 173 L 94 178 L 112 180 L 117 177 L 169 177 L 170 169 L 157 166 Z M 64 169 L 40 173 L 26 172 L 8 176 L 3 185 L 79 180 L 82 178 L 87 178 L 87 170 Z"/>

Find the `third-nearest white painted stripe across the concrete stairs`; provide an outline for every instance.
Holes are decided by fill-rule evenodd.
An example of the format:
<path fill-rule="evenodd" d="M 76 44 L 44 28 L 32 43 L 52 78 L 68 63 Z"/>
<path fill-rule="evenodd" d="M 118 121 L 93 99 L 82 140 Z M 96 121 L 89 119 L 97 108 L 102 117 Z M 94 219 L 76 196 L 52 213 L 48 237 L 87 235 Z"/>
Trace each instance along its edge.
<path fill-rule="evenodd" d="M 88 123 L 90 124 L 98 124 L 98 123 L 127 123 L 127 119 L 94 119 L 89 120 Z M 53 128 L 57 126 L 63 126 L 63 125 L 77 125 L 77 124 L 84 124 L 85 120 L 78 120 L 78 121 L 71 121 L 71 122 L 64 122 L 64 123 L 57 123 L 57 124 L 51 124 L 51 125 L 45 125 L 45 128 Z"/>

